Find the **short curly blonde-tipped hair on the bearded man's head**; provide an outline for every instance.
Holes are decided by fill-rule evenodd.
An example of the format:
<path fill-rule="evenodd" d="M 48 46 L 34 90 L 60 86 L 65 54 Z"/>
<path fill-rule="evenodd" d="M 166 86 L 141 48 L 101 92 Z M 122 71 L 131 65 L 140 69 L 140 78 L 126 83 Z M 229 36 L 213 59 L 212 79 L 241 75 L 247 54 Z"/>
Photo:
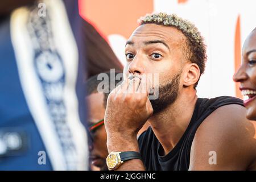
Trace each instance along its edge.
<path fill-rule="evenodd" d="M 206 55 L 206 46 L 204 44 L 204 38 L 201 36 L 199 30 L 195 25 L 188 20 L 179 18 L 176 14 L 148 14 L 138 20 L 140 25 L 147 23 L 159 24 L 162 26 L 175 27 L 177 30 L 180 30 L 187 41 L 185 43 L 185 56 L 191 63 L 196 63 L 200 69 L 200 76 L 204 73 L 205 62 L 207 60 Z M 195 88 L 199 80 L 195 84 Z"/>

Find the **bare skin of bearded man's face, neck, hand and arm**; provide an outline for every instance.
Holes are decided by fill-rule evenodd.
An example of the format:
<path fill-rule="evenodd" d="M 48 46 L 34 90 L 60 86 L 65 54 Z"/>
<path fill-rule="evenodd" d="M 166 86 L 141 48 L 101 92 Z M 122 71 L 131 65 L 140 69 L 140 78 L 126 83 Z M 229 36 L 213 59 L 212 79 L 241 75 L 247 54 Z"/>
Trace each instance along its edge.
<path fill-rule="evenodd" d="M 139 151 L 137 133 L 150 122 L 152 131 L 168 154 L 179 142 L 191 121 L 197 101 L 199 66 L 184 56 L 187 38 L 174 27 L 154 23 L 139 26 L 126 43 L 124 81 L 108 97 L 105 127 L 108 151 Z M 158 101 L 148 100 L 150 78 L 159 74 Z M 135 77 L 127 79 L 130 75 Z M 172 85 L 172 101 L 164 88 Z M 141 90 L 147 90 L 142 92 Z M 160 103 L 160 102 L 159 102 Z M 256 125 L 245 117 L 240 105 L 225 105 L 214 110 L 196 131 L 190 155 L 190 170 L 256 169 Z M 209 151 L 216 151 L 216 165 L 208 162 Z M 118 170 L 144 170 L 142 160 L 132 159 Z"/>

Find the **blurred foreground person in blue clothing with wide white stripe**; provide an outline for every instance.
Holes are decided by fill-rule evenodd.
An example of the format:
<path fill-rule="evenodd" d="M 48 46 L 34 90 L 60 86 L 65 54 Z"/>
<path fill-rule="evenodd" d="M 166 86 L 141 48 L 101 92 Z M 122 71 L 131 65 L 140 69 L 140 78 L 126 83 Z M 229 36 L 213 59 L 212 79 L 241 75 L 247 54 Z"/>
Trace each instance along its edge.
<path fill-rule="evenodd" d="M 0 170 L 89 169 L 85 80 L 122 65 L 78 1 L 0 1 L 0 57 Z"/>

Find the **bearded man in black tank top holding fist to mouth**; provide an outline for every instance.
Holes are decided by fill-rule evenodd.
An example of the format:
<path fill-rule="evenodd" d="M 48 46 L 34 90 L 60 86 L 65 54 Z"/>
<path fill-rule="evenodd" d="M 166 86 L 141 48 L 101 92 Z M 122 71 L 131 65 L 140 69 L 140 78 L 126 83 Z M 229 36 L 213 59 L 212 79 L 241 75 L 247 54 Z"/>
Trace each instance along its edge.
<path fill-rule="evenodd" d="M 109 169 L 256 169 L 256 129 L 242 100 L 196 95 L 207 56 L 192 23 L 174 14 L 147 15 L 125 55 L 124 80 L 109 94 L 104 118 Z M 148 74 L 158 74 L 159 84 Z M 151 89 L 159 90 L 155 100 L 148 99 Z M 146 121 L 150 127 L 137 140 Z"/>

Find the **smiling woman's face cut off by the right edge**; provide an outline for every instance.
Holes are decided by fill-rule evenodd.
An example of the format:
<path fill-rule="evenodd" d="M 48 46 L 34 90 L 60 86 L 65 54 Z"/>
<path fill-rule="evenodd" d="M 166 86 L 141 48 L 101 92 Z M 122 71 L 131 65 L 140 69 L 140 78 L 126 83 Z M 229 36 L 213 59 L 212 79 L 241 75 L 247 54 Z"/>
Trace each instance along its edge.
<path fill-rule="evenodd" d="M 256 120 L 256 28 L 245 40 L 242 50 L 242 64 L 233 77 L 234 81 L 240 82 L 242 95 L 247 97 L 245 105 L 246 117 Z"/>

